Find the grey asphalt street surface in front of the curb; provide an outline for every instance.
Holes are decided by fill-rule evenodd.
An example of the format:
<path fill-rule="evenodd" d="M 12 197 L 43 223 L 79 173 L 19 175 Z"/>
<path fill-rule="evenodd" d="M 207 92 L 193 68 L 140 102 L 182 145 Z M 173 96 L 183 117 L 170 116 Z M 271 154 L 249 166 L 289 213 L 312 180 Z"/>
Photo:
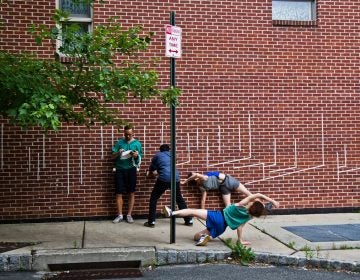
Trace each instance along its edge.
<path fill-rule="evenodd" d="M 48 272 L 47 272 L 48 273 Z M 162 266 L 145 270 L 138 278 L 113 278 L 112 280 L 157 279 L 157 280 L 355 280 L 359 273 L 345 271 L 327 271 L 292 267 L 251 266 L 238 264 L 201 264 Z M 0 280 L 44 280 L 51 279 L 45 272 L 2 272 Z"/>

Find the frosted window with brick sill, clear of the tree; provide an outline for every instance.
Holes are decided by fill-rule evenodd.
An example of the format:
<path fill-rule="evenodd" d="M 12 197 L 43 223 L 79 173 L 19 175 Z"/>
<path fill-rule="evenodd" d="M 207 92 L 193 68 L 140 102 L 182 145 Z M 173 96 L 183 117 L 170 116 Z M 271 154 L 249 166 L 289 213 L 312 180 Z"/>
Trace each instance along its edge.
<path fill-rule="evenodd" d="M 316 0 L 273 0 L 273 20 L 314 21 Z"/>

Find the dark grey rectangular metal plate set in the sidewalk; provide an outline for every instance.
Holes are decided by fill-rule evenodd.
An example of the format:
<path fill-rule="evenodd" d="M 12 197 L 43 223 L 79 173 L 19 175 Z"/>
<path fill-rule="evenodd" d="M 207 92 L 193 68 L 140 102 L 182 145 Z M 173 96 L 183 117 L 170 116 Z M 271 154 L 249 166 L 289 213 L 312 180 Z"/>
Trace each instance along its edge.
<path fill-rule="evenodd" d="M 283 227 L 310 242 L 360 241 L 360 224 Z"/>

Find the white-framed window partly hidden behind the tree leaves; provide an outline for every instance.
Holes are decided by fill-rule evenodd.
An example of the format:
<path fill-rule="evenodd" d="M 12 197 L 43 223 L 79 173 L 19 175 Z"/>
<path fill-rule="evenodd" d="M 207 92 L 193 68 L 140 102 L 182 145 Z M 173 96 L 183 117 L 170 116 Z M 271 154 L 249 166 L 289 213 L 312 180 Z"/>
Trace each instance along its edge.
<path fill-rule="evenodd" d="M 57 8 L 69 13 L 69 20 L 63 22 L 59 28 L 65 31 L 67 28 L 71 28 L 71 25 L 76 24 L 78 26 L 78 33 L 91 32 L 92 30 L 92 8 L 89 3 L 85 3 L 79 0 L 57 0 Z M 57 49 L 60 47 L 71 48 L 72 44 L 69 38 L 61 39 L 57 42 Z"/>

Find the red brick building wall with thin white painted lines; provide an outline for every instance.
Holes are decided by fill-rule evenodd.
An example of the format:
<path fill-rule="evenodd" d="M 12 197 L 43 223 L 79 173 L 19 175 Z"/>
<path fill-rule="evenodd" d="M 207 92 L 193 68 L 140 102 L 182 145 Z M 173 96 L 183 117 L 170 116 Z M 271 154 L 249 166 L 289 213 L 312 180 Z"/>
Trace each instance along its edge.
<path fill-rule="evenodd" d="M 7 2 L 0 8 L 0 49 L 51 57 L 52 50 L 36 47 L 26 29 L 49 24 L 55 1 Z M 279 200 L 282 209 L 360 206 L 359 170 L 350 170 L 360 166 L 356 1 L 317 1 L 313 26 L 273 25 L 270 0 L 107 2 L 96 6 L 96 23 L 116 15 L 125 26 L 156 32 L 141 59 L 160 58 L 161 86 L 169 84 L 170 68 L 164 25 L 176 12 L 183 29 L 183 55 L 176 60 L 183 177 L 218 169 Z M 129 101 L 119 107 L 145 148 L 134 213 L 144 215 L 153 185 L 144 172 L 158 146 L 170 142 L 170 111 L 159 100 Z M 110 154 L 121 131 L 64 124 L 44 137 L 4 119 L 0 124 L 1 220 L 116 214 Z M 199 206 L 196 189 L 185 186 L 183 193 L 190 207 Z M 167 192 L 159 209 L 169 201 Z M 218 193 L 209 194 L 207 207 L 222 207 Z"/>

